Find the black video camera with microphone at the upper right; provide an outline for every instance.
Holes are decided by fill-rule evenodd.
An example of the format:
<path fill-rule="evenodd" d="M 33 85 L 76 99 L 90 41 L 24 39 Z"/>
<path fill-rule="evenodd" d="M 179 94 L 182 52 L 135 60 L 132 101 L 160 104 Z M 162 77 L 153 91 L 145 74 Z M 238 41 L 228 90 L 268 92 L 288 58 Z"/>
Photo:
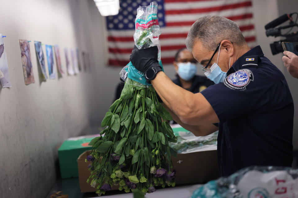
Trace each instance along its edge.
<path fill-rule="evenodd" d="M 293 14 L 297 15 L 295 22 L 292 19 Z M 297 19 L 298 19 L 298 13 L 294 12 L 291 14 L 281 15 L 277 19 L 274 19 L 273 21 L 265 25 L 267 37 L 269 36 L 286 37 L 285 39 L 282 39 L 280 41 L 274 41 L 273 43 L 270 43 L 270 48 L 273 55 L 283 52 L 282 42 L 298 42 L 298 32 L 291 32 L 293 27 L 295 26 L 298 27 Z M 282 24 L 283 22 L 286 22 L 287 20 L 290 20 L 288 25 L 279 26 L 278 28 L 275 28 L 276 26 Z M 291 29 L 286 33 L 282 34 L 281 30 L 287 29 L 287 28 L 291 28 Z"/>

